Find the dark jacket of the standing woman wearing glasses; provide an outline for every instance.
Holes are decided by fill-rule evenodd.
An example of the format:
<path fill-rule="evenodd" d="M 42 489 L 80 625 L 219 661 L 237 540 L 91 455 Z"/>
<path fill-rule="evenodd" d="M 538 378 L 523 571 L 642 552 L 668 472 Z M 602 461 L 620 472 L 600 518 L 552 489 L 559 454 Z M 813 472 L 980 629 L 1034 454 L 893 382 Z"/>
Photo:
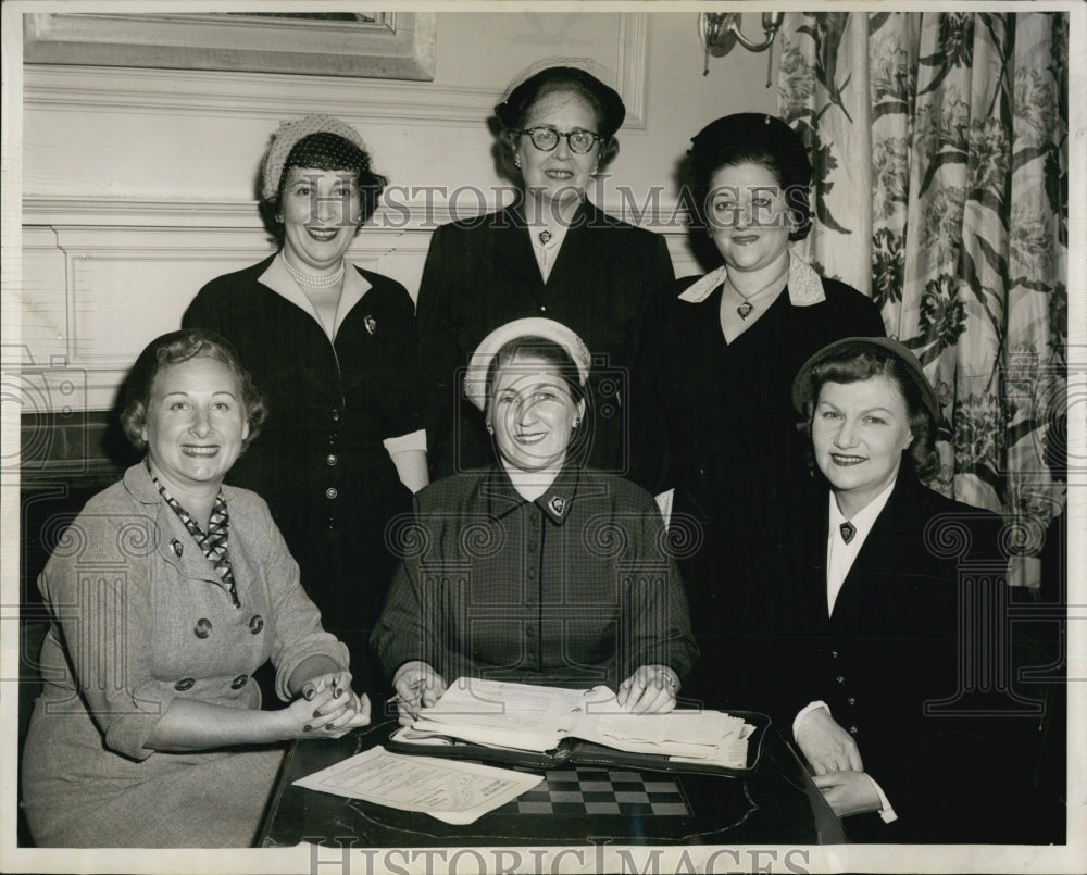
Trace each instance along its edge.
<path fill-rule="evenodd" d="M 667 245 L 585 201 L 544 283 L 528 234 L 514 204 L 442 225 L 430 239 L 416 316 L 432 479 L 493 458 L 458 368 L 490 332 L 527 316 L 567 325 L 592 352 L 587 461 L 603 471 L 626 468 L 626 368 L 650 296 L 674 276 Z"/>

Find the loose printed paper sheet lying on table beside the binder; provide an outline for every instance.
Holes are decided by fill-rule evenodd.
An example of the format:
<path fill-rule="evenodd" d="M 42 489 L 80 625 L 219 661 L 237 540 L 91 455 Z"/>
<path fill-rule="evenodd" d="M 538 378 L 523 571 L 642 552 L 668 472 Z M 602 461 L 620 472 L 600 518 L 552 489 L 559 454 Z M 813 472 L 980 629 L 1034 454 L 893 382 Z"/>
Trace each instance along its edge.
<path fill-rule="evenodd" d="M 446 823 L 468 824 L 541 780 L 541 775 L 489 765 L 402 757 L 378 745 L 295 784 L 401 811 L 420 811 Z"/>

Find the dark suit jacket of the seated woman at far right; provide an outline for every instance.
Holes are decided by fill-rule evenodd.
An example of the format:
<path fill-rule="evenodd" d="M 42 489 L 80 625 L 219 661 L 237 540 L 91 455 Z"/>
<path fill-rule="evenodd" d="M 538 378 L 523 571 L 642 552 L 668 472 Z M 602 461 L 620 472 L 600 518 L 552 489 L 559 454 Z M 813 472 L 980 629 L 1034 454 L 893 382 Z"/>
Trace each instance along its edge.
<path fill-rule="evenodd" d="M 774 709 L 783 730 L 822 700 L 855 738 L 898 821 L 847 818 L 853 840 L 1010 840 L 1011 787 L 1029 741 L 1013 739 L 1022 721 L 994 716 L 1010 699 L 985 699 L 978 683 L 1011 662 L 995 611 L 1007 599 L 1000 518 L 926 489 L 903 466 L 828 616 L 825 485 L 807 498 L 762 605 L 782 632 Z"/>

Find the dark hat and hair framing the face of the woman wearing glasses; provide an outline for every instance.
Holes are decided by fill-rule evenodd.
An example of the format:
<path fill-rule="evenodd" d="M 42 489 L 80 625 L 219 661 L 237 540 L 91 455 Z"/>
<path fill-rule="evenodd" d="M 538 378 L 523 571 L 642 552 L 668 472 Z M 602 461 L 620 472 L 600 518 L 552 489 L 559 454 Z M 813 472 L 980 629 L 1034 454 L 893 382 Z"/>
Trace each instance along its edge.
<path fill-rule="evenodd" d="M 594 133 L 602 138 L 597 166 L 601 168 L 608 166 L 619 154 L 615 132 L 626 117 L 626 107 L 623 105 L 619 92 L 591 73 L 578 67 L 552 66 L 529 76 L 517 85 L 505 100 L 495 107 L 495 115 L 502 124 L 499 140 L 504 147 L 502 154 L 507 161 L 507 170 L 513 165 L 513 154 L 521 137 L 515 132 L 524 128 L 528 114 L 541 98 L 561 91 L 577 95 L 592 109 L 597 120 L 597 129 Z"/>

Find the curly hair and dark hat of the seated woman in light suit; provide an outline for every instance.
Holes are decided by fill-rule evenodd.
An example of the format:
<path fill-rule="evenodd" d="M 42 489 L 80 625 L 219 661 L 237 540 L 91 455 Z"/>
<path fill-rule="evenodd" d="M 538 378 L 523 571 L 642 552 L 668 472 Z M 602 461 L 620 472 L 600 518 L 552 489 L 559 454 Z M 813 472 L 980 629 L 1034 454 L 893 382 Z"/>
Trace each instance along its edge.
<path fill-rule="evenodd" d="M 249 436 L 241 441 L 241 450 L 252 442 L 267 417 L 264 399 L 253 386 L 249 372 L 241 366 L 234 347 L 214 332 L 203 328 L 185 328 L 157 337 L 137 357 L 136 363 L 125 382 L 125 407 L 121 412 L 121 426 L 125 436 L 137 450 L 146 450 L 147 441 L 142 432 L 147 425 L 147 410 L 151 403 L 151 390 L 159 372 L 190 359 L 214 359 L 222 362 L 234 374 L 241 390 L 241 403 L 246 409 Z"/>

